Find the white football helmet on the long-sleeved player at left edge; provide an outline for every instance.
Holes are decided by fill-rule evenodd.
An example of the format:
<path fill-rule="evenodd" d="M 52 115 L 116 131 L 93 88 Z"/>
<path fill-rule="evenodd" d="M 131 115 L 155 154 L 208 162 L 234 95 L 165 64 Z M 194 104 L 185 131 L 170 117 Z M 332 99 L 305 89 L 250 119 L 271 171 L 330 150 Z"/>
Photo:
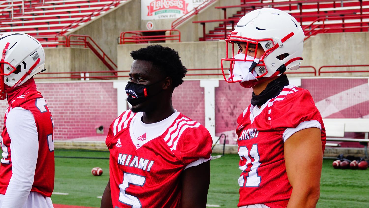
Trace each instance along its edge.
<path fill-rule="evenodd" d="M 0 99 L 6 98 L 5 85 L 16 88 L 35 74 L 45 71 L 44 48 L 34 37 L 9 32 L 0 36 Z"/>

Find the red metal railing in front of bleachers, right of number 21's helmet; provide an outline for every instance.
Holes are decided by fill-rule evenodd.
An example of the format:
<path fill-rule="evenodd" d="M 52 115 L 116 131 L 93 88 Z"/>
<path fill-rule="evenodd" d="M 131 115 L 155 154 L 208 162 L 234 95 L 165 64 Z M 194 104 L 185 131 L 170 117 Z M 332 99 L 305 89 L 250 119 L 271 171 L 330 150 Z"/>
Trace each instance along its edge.
<path fill-rule="evenodd" d="M 342 30 L 344 32 L 345 30 L 349 29 L 368 29 L 369 25 L 363 25 L 368 24 L 369 21 L 363 21 L 363 18 L 369 18 L 369 14 L 364 15 L 351 15 L 351 16 L 342 16 L 342 17 L 320 17 L 317 18 L 315 21 L 313 21 L 311 24 L 306 25 L 303 27 L 305 39 L 316 35 L 318 33 L 327 33 L 331 30 Z M 358 22 L 349 22 L 345 23 L 345 20 L 352 20 L 357 19 Z M 341 20 L 342 23 L 327 23 L 327 21 L 331 20 Z M 360 25 L 358 25 L 360 24 Z"/>

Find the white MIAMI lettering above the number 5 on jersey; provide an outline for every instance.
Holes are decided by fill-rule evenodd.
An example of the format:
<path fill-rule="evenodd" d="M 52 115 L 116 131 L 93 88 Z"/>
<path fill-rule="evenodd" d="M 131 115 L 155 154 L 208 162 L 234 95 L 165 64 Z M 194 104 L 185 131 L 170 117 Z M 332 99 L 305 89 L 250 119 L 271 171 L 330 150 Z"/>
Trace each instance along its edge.
<path fill-rule="evenodd" d="M 131 158 L 132 158 L 132 161 L 131 161 Z M 150 172 L 151 167 L 154 164 L 154 161 L 147 160 L 147 159 L 142 158 L 142 157 L 138 160 L 137 156 L 132 156 L 130 154 L 127 155 L 127 154 L 119 153 L 118 164 L 120 164 L 122 166 L 140 168 L 142 170 Z"/>

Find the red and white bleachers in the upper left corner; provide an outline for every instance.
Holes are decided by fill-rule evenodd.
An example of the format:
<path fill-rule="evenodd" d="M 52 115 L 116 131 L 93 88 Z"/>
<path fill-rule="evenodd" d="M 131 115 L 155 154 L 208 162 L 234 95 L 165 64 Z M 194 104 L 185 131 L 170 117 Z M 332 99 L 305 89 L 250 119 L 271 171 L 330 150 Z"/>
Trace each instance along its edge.
<path fill-rule="evenodd" d="M 124 2 L 125 0 L 0 1 L 0 34 L 9 31 L 30 35 L 65 33 Z"/>

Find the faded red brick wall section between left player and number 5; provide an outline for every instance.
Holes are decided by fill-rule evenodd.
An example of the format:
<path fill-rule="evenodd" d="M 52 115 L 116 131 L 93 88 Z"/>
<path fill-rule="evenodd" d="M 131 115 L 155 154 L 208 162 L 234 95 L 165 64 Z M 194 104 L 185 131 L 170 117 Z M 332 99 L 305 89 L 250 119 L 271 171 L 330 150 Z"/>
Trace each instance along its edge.
<path fill-rule="evenodd" d="M 117 117 L 117 90 L 113 82 L 38 83 L 55 124 L 55 140 L 98 136 L 95 127 L 103 125 L 107 135 Z M 1 114 L 7 108 L 0 102 Z"/>

